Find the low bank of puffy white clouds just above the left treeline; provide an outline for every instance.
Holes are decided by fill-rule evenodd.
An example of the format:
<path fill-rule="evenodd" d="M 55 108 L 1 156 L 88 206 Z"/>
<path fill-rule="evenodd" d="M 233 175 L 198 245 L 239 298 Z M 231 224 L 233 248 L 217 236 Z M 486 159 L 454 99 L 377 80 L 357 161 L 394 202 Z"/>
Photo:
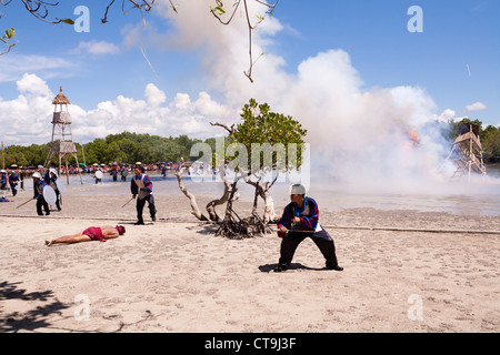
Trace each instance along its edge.
<path fill-rule="evenodd" d="M 0 126 L 6 128 L 2 140 L 9 145 L 50 142 L 56 94 L 34 74 L 24 74 L 17 81 L 17 99 L 0 98 Z M 178 93 L 168 102 L 166 93 L 149 83 L 144 88 L 144 99 L 118 95 L 89 111 L 74 103 L 69 105 L 73 140 L 87 143 L 123 131 L 203 139 L 218 133 L 209 124 L 214 116 L 228 121 L 237 115 L 234 110 L 211 100 L 206 92 L 200 92 L 194 101 L 186 93 Z"/>

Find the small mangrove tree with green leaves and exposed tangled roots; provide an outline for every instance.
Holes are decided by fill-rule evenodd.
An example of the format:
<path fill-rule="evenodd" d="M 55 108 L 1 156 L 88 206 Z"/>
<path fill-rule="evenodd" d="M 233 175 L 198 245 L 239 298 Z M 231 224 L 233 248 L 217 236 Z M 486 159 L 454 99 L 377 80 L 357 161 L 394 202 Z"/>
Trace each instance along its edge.
<path fill-rule="evenodd" d="M 232 182 L 229 182 L 226 173 L 223 173 L 226 171 L 223 164 L 219 169 L 224 182 L 224 193 L 221 199 L 210 202 L 207 205 L 207 211 L 209 212 L 210 220 L 219 224 L 216 235 L 230 239 L 251 237 L 271 232 L 268 224 L 274 222 L 277 216 L 274 214 L 274 202 L 271 197 L 270 189 L 278 180 L 280 172 L 286 173 L 300 168 L 302 158 L 299 153 L 303 150 L 303 136 L 307 134 L 307 130 L 303 130 L 301 124 L 293 120 L 293 118 L 271 112 L 267 103 L 258 104 L 253 99 L 243 106 L 240 115 L 242 123 L 237 126 L 234 124 L 228 126 L 220 122 L 210 123 L 212 126 L 220 126 L 229 133 L 224 138 L 224 144 L 228 144 L 228 149 L 224 150 L 223 156 L 218 156 L 217 153 L 212 155 L 212 163 L 216 160 L 226 163 L 234 159 L 234 150 L 230 149 L 233 143 L 246 152 L 251 151 L 252 154 L 254 153 L 252 151 L 254 143 L 264 146 L 262 151 L 263 155 L 261 155 L 259 149 L 258 152 L 256 150 L 258 155 L 250 158 L 248 154 L 243 154 L 243 158 L 240 159 L 238 156 L 238 159 L 228 164 L 228 169 L 234 172 Z M 294 161 L 290 159 L 292 156 L 296 158 Z M 233 162 L 237 163 L 231 166 Z M 249 162 L 250 164 L 248 164 Z M 216 162 L 213 165 L 217 164 Z M 263 176 L 269 172 L 276 173 L 274 179 L 272 181 L 263 181 Z M 182 173 L 178 174 L 179 182 L 181 181 L 181 175 Z M 238 197 L 237 185 L 239 181 L 244 181 L 254 189 L 252 212 L 248 217 L 241 217 L 233 209 L 233 202 Z M 183 185 L 180 183 L 179 186 L 181 190 L 183 189 Z M 184 190 L 182 192 L 189 197 Z M 262 217 L 258 213 L 259 199 L 264 201 L 264 213 Z M 190 197 L 190 200 L 192 206 L 193 199 Z M 226 213 L 223 219 L 220 219 L 214 212 L 214 207 L 224 203 Z M 199 211 L 198 206 L 193 207 L 193 211 Z M 193 212 L 193 214 L 200 220 L 199 213 Z"/>

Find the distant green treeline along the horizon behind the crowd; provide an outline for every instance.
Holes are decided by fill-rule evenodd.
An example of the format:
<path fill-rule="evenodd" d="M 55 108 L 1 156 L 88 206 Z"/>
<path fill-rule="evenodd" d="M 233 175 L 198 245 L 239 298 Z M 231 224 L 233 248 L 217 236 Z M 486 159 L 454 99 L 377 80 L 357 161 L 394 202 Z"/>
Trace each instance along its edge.
<path fill-rule="evenodd" d="M 480 140 L 484 150 L 484 160 L 488 163 L 500 162 L 500 129 L 488 125 L 482 129 L 482 122 L 463 119 L 460 122 L 450 122 L 447 138 L 451 143 L 459 135 L 459 129 L 462 123 L 472 122 L 478 124 L 480 130 Z M 182 156 L 186 161 L 194 160 L 197 156 L 190 156 L 191 146 L 196 143 L 208 143 L 216 151 L 216 139 L 199 140 L 190 139 L 187 135 L 179 136 L 159 136 L 150 134 L 137 134 L 123 132 L 110 134 L 104 139 L 96 139 L 92 142 L 77 145 L 77 155 L 80 163 L 91 165 L 93 163 L 154 163 L 154 162 L 179 162 Z M 82 149 L 83 148 L 83 149 Z M 18 166 L 43 165 L 50 150 L 50 143 L 31 144 L 28 146 L 9 145 L 4 149 L 6 168 L 17 164 Z M 53 158 L 57 164 L 57 156 Z M 69 160 L 70 164 L 76 164 L 74 159 Z"/>

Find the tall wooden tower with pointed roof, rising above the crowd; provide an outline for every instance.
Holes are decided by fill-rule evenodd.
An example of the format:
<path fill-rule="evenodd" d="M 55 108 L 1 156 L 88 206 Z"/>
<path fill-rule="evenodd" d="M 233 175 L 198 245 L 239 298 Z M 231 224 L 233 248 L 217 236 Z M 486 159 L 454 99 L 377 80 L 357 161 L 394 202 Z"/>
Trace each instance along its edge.
<path fill-rule="evenodd" d="M 53 99 L 52 104 L 53 118 L 52 118 L 52 141 L 50 143 L 50 152 L 46 160 L 46 169 L 50 168 L 50 161 L 53 155 L 59 156 L 58 174 L 61 176 L 61 163 L 64 158 L 66 161 L 66 178 L 69 184 L 69 171 L 68 171 L 68 155 L 74 156 L 77 160 L 78 172 L 80 174 L 80 182 L 83 184 L 81 178 L 80 165 L 78 164 L 77 146 L 73 142 L 73 135 L 71 134 L 71 119 L 68 111 L 68 105 L 71 104 L 68 98 L 62 93 L 60 88 L 59 94 Z"/>

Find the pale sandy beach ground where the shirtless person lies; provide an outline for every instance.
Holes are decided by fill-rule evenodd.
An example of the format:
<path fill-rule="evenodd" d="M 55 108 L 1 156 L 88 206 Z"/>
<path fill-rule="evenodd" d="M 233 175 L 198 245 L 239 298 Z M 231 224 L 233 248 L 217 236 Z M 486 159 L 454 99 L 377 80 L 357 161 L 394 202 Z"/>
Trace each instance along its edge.
<path fill-rule="evenodd" d="M 499 215 L 324 212 L 344 271 L 306 240 L 274 273 L 276 234 L 216 237 L 186 197 L 157 196 L 158 221 L 144 209 L 136 226 L 127 196 L 68 195 L 37 216 L 34 202 L 16 209 L 31 193 L 0 203 L 1 333 L 500 331 Z M 118 223 L 127 233 L 106 243 L 44 245 Z"/>

